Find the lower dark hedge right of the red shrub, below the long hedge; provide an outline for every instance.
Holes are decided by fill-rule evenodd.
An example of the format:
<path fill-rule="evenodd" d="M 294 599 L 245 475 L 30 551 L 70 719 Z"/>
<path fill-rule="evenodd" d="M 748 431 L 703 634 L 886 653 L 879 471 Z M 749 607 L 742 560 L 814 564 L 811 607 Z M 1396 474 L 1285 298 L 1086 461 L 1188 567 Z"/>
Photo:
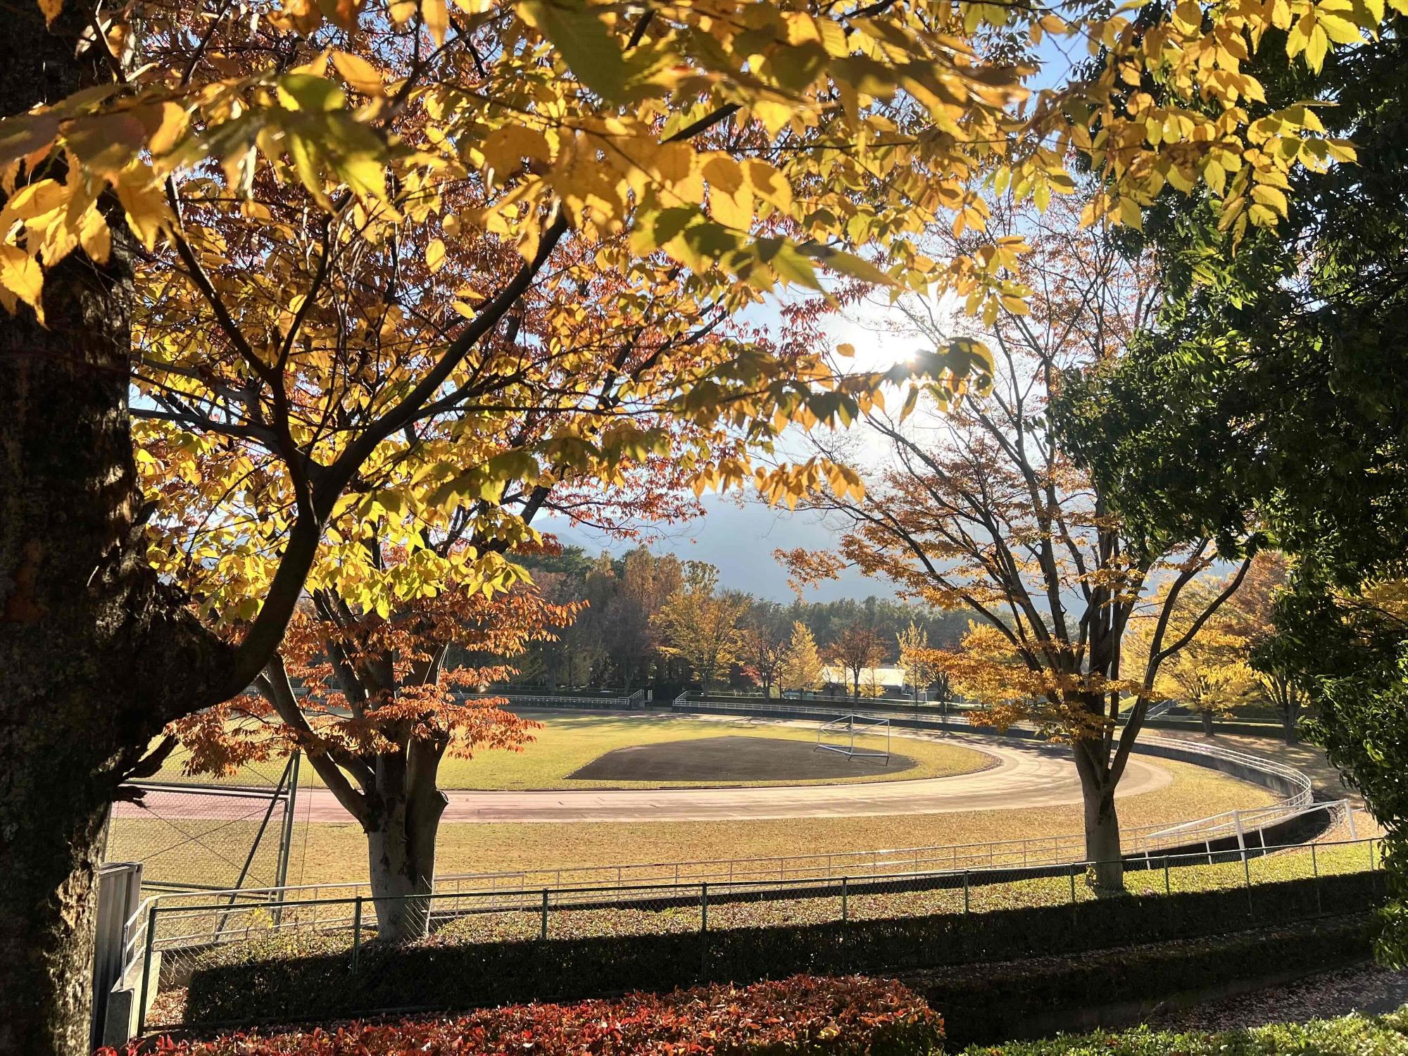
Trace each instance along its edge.
<path fill-rule="evenodd" d="M 1069 957 L 967 964 L 908 976 L 957 1046 L 1138 1022 L 1178 995 L 1367 960 L 1369 914 Z"/>

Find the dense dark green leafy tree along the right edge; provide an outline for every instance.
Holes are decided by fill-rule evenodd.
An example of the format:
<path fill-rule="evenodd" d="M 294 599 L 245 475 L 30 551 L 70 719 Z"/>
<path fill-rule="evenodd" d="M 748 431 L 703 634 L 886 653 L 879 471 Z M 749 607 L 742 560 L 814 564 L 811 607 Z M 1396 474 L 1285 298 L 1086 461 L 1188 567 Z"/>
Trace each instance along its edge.
<path fill-rule="evenodd" d="M 1321 70 L 1269 49 L 1267 104 L 1321 111 L 1354 165 L 1291 175 L 1287 221 L 1226 252 L 1219 210 L 1167 196 L 1145 217 L 1169 303 L 1136 352 L 1071 390 L 1071 427 L 1128 517 L 1215 532 L 1235 553 L 1249 518 L 1297 556 L 1278 634 L 1253 666 L 1388 826 L 1400 895 L 1408 839 L 1408 63 L 1405 20 Z M 1397 907 L 1384 949 L 1402 963 Z"/>

